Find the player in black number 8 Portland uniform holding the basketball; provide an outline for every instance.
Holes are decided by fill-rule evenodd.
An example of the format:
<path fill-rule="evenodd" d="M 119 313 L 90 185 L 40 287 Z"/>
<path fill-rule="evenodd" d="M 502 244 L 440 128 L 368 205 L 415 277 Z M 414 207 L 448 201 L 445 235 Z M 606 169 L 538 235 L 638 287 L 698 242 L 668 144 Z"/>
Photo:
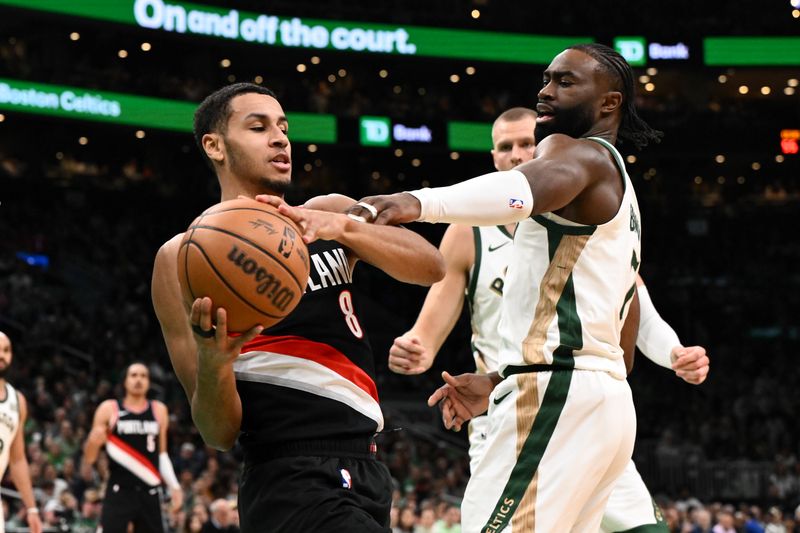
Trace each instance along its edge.
<path fill-rule="evenodd" d="M 289 122 L 268 89 L 220 89 L 198 108 L 194 131 L 221 200 L 288 189 Z M 383 416 L 353 267 L 361 259 L 430 285 L 444 263 L 411 231 L 341 214 L 354 203 L 341 195 L 306 202 L 305 222 L 319 239 L 309 244 L 308 288 L 287 318 L 263 331 L 229 337 L 224 309 L 212 316 L 209 298 L 187 306 L 177 276 L 182 235 L 155 260 L 153 305 L 194 422 L 209 445 L 228 449 L 238 437 L 244 450 L 245 533 L 389 531 L 391 478 L 373 441 Z"/>

